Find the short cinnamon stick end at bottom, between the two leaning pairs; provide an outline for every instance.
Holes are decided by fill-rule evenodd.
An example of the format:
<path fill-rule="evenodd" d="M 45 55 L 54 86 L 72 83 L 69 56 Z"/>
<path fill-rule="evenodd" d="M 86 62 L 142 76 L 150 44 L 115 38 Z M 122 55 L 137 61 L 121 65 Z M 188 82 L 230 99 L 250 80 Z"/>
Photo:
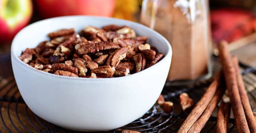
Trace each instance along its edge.
<path fill-rule="evenodd" d="M 217 113 L 216 133 L 227 133 L 230 110 L 230 103 L 221 102 Z"/>

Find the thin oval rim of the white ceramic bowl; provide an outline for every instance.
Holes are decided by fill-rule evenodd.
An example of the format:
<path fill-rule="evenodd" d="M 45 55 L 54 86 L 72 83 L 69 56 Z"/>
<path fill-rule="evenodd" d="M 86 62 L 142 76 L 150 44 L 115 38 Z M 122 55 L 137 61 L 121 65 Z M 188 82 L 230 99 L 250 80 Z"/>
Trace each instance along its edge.
<path fill-rule="evenodd" d="M 167 45 L 167 54 L 164 56 L 163 59 L 161 59 L 161 61 L 159 61 L 158 63 L 156 63 L 153 66 L 150 66 L 149 68 L 142 70 L 141 72 L 137 72 L 135 74 L 131 74 L 131 75 L 127 75 L 127 76 L 122 76 L 122 77 L 108 77 L 108 78 L 82 78 L 82 77 L 68 77 L 68 76 L 63 76 L 63 75 L 55 75 L 55 74 L 51 74 L 48 72 L 44 72 L 41 70 L 37 70 L 35 68 L 33 68 L 32 66 L 28 65 L 27 63 L 24 63 L 23 61 L 21 61 L 19 59 L 19 56 L 16 56 L 15 52 L 14 52 L 14 47 L 15 47 L 15 43 L 17 42 L 17 38 L 20 36 L 20 34 L 25 31 L 26 29 L 28 29 L 29 27 L 31 27 L 32 25 L 36 25 L 37 23 L 43 23 L 43 22 L 47 22 L 47 21 L 52 21 L 52 20 L 58 20 L 58 19 L 63 19 L 63 18 L 77 18 L 77 17 L 85 17 L 85 18 L 101 18 L 101 19 L 106 19 L 106 20 L 113 20 L 113 21 L 119 21 L 119 22 L 125 22 L 125 23 L 130 23 L 130 24 L 134 24 L 134 25 L 138 25 L 140 27 L 146 28 L 148 29 L 150 32 L 154 32 L 154 34 L 157 34 L 158 37 L 163 40 L 165 42 L 165 45 Z M 17 46 L 16 46 L 17 47 Z M 169 41 L 167 41 L 167 39 L 165 37 L 163 37 L 161 34 L 159 34 L 158 32 L 154 31 L 153 29 L 150 29 L 149 27 L 141 24 L 141 23 L 137 23 L 137 22 L 132 22 L 129 20 L 122 20 L 122 19 L 118 19 L 118 18 L 111 18 L 111 17 L 104 17 L 104 16 L 87 16 L 87 15 L 72 15 L 72 16 L 60 16 L 60 17 L 54 17 L 54 18 L 48 18 L 48 19 L 44 19 L 44 20 L 40 20 L 34 23 L 31 23 L 30 25 L 27 25 L 26 27 L 24 27 L 22 30 L 20 30 L 14 37 L 12 43 L 11 43 L 11 57 L 13 57 L 13 59 L 15 61 L 17 61 L 21 66 L 25 66 L 28 69 L 34 71 L 34 72 L 39 72 L 43 75 L 47 75 L 47 76 L 51 76 L 51 77 L 56 77 L 56 78 L 62 78 L 62 79 L 70 79 L 70 80 L 89 80 L 89 81 L 110 81 L 110 80 L 125 80 L 127 78 L 132 78 L 134 76 L 137 76 L 139 74 L 143 74 L 145 72 L 150 72 L 150 70 L 152 69 L 157 69 L 156 67 L 160 66 L 160 64 L 163 64 L 164 61 L 167 60 L 167 57 L 171 56 L 170 58 L 172 58 L 172 47 L 169 43 Z M 12 60 L 12 59 L 11 59 Z"/>

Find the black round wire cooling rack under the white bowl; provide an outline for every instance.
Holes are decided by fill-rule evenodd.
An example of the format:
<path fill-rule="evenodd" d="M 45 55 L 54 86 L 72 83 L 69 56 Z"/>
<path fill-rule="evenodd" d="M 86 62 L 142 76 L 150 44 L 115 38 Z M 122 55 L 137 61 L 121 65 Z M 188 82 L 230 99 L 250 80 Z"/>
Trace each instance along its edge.
<path fill-rule="evenodd" d="M 256 109 L 256 69 L 240 64 L 245 86 L 248 91 L 251 106 Z M 220 70 L 220 64 L 217 58 L 213 58 L 213 74 Z M 143 117 L 118 129 L 107 131 L 109 133 L 121 133 L 122 130 L 134 130 L 146 133 L 172 133 L 176 132 L 187 113 L 181 110 L 178 96 L 182 92 L 187 92 L 189 96 L 198 102 L 205 89 L 212 79 L 205 83 L 198 83 L 190 88 L 165 86 L 162 94 L 166 101 L 174 103 L 171 113 L 164 113 L 162 108 L 155 104 Z M 47 96 L 45 96 L 47 98 Z M 214 113 L 213 113 L 214 114 Z M 216 116 L 216 115 L 215 115 Z M 47 122 L 35 115 L 24 103 L 16 86 L 12 74 L 10 62 L 0 63 L 0 131 L 6 132 L 39 132 L 39 133 L 80 133 L 80 131 L 71 131 L 61 128 L 50 122 Z M 215 133 L 216 117 L 211 116 L 202 133 Z M 228 124 L 228 133 L 235 132 L 236 126 L 234 119 L 230 119 Z"/>

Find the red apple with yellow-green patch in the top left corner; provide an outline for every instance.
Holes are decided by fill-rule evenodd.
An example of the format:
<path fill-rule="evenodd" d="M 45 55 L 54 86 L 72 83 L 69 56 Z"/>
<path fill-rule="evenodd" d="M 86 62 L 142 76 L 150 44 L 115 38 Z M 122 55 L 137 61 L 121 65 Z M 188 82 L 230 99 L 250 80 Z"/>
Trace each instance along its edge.
<path fill-rule="evenodd" d="M 0 0 L 0 44 L 11 41 L 31 16 L 31 0 Z"/>

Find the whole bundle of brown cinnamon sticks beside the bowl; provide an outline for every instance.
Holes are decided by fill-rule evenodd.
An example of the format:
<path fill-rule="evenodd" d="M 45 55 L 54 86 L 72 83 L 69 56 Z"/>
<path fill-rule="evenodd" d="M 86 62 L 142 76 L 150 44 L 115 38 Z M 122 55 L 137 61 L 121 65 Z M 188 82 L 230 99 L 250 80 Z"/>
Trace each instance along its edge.
<path fill-rule="evenodd" d="M 230 97 L 230 104 L 222 102 L 219 106 L 216 132 L 227 132 L 231 105 L 238 133 L 256 133 L 256 120 L 250 107 L 237 57 L 232 58 L 228 51 L 228 43 L 226 41 L 221 41 L 218 49 L 222 70 L 189 113 L 187 119 L 178 130 L 178 133 L 199 133 L 219 101 L 221 101 L 225 88 Z"/>

